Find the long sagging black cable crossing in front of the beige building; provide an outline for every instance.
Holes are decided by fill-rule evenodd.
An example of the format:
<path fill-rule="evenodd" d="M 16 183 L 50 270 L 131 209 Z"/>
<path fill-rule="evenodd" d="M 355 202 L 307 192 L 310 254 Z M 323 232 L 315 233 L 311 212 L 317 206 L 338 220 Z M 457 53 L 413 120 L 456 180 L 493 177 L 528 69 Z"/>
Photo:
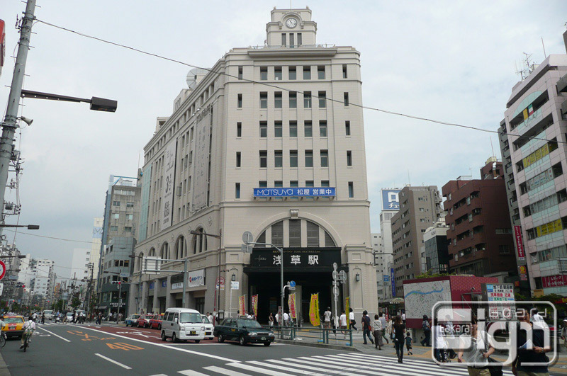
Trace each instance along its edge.
<path fill-rule="evenodd" d="M 186 67 L 203 69 L 203 70 L 206 70 L 207 72 L 210 72 L 210 73 L 222 74 L 223 76 L 232 77 L 232 78 L 238 79 L 238 80 L 240 80 L 240 81 L 247 81 L 247 82 L 251 82 L 252 84 L 259 84 L 259 85 L 269 86 L 269 87 L 272 87 L 272 88 L 275 88 L 275 89 L 279 89 L 279 90 L 282 90 L 282 91 L 298 92 L 298 93 L 302 93 L 303 95 L 305 95 L 305 93 L 304 93 L 303 91 L 296 91 L 296 90 L 292 90 L 292 89 L 287 89 L 287 88 L 284 88 L 284 87 L 282 87 L 282 86 L 278 86 L 278 85 L 274 85 L 274 84 L 268 84 L 268 83 L 266 83 L 266 82 L 260 82 L 260 81 L 254 81 L 254 80 L 252 80 L 252 79 L 240 78 L 240 77 L 238 77 L 238 76 L 235 76 L 235 75 L 233 75 L 233 74 L 228 74 L 228 73 L 226 73 L 226 72 L 218 72 L 218 71 L 214 71 L 213 69 L 204 68 L 204 67 L 198 67 L 197 65 L 189 64 L 189 63 L 186 63 L 186 62 L 182 62 L 181 60 L 177 60 L 177 59 L 172 59 L 171 57 L 165 57 L 165 56 L 163 56 L 163 55 L 158 55 L 158 54 L 155 54 L 155 53 L 153 53 L 153 52 L 147 52 L 147 51 L 144 51 L 144 50 L 140 50 L 140 49 L 138 49 L 138 48 L 135 48 L 135 47 L 130 47 L 130 46 L 128 46 L 128 45 L 123 45 L 123 44 L 120 44 L 120 43 L 117 43 L 117 42 L 112 42 L 111 40 L 106 40 L 106 39 L 103 39 L 103 38 L 95 37 L 95 36 L 93 36 L 93 35 L 88 35 L 88 34 L 85 34 L 85 33 L 80 33 L 79 31 L 72 30 L 72 29 L 69 29 L 69 28 L 64 28 L 63 26 L 55 25 L 55 24 L 53 24 L 53 23 L 49 23 L 49 22 L 40 20 L 40 19 L 38 19 L 38 18 L 35 18 L 35 21 L 40 22 L 40 23 L 43 23 L 43 24 L 45 24 L 45 25 L 52 26 L 52 27 L 54 27 L 54 28 L 58 28 L 58 29 L 60 29 L 60 30 L 67 31 L 67 32 L 69 32 L 69 33 L 74 33 L 74 34 L 80 35 L 80 36 L 82 36 L 82 37 L 84 37 L 84 38 L 90 38 L 90 39 L 98 40 L 99 42 L 108 43 L 109 45 L 114 45 L 114 46 L 116 46 L 116 47 L 122 47 L 122 48 L 125 48 L 125 49 L 127 49 L 127 50 L 132 50 L 132 51 L 135 51 L 135 52 L 140 52 L 141 54 L 144 54 L 144 55 L 153 56 L 153 57 L 157 57 L 158 59 L 164 59 L 164 60 L 167 60 L 167 61 L 169 61 L 169 62 L 175 62 L 175 63 L 177 63 L 177 64 L 185 65 Z M 316 95 L 314 95 L 314 94 L 312 94 L 311 97 L 312 97 L 312 98 L 320 98 L 319 96 L 316 96 Z M 327 100 L 327 101 L 332 101 L 332 102 L 336 102 L 336 103 L 344 103 L 344 101 L 340 101 L 340 100 L 337 100 L 337 99 L 334 99 L 334 98 L 329 98 L 329 97 L 325 97 L 325 100 Z M 350 105 L 350 106 L 354 106 L 354 107 L 363 108 L 363 109 L 366 109 L 366 110 L 374 110 L 374 111 L 378 111 L 378 112 L 381 112 L 381 113 L 387 113 L 387 114 L 389 114 L 389 115 L 397 115 L 397 116 L 402 116 L 402 117 L 404 117 L 404 118 L 410 118 L 410 119 L 414 119 L 414 120 L 427 121 L 427 122 L 436 123 L 436 124 L 439 124 L 439 125 L 449 125 L 449 126 L 451 126 L 451 127 L 461 127 L 461 128 L 465 128 L 465 129 L 468 129 L 468 130 L 478 130 L 478 131 L 480 131 L 480 132 L 496 133 L 496 134 L 498 134 L 498 135 L 504 135 L 504 134 L 505 134 L 505 132 L 500 132 L 500 131 L 498 131 L 498 130 L 487 130 L 487 129 L 485 129 L 485 128 L 473 127 L 473 126 L 471 126 L 471 125 L 462 125 L 462 124 L 457 124 L 457 123 L 444 122 L 444 121 L 441 121 L 441 120 L 434 120 L 434 119 L 430 119 L 430 118 L 422 118 L 422 117 L 420 117 L 420 116 L 408 115 L 408 114 L 406 114 L 406 113 L 397 113 L 397 112 L 395 112 L 395 111 L 383 110 L 383 109 L 381 109 L 381 108 L 375 108 L 375 107 L 370 107 L 370 106 L 363 106 L 363 105 L 360 105 L 360 104 L 358 104 L 358 103 L 349 102 L 349 105 Z M 530 137 L 530 136 L 524 136 L 524 135 L 509 135 L 509 136 L 510 136 L 510 137 L 527 138 L 527 139 L 540 139 L 540 140 L 543 140 L 543 141 L 549 141 L 549 139 L 544 139 L 544 138 L 539 138 L 539 137 Z M 557 142 L 558 144 L 567 144 L 567 142 L 564 142 L 564 141 L 555 141 L 555 142 Z"/>

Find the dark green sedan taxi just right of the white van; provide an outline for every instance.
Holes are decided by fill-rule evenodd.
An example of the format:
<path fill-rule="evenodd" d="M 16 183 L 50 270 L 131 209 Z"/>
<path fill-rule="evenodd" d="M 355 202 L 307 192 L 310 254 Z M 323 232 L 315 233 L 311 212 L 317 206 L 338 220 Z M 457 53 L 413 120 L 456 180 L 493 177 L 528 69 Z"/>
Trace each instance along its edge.
<path fill-rule="evenodd" d="M 262 328 L 254 319 L 225 319 L 215 326 L 213 334 L 220 343 L 225 340 L 238 341 L 242 346 L 247 343 L 264 343 L 264 346 L 270 346 L 275 338 L 273 331 Z"/>

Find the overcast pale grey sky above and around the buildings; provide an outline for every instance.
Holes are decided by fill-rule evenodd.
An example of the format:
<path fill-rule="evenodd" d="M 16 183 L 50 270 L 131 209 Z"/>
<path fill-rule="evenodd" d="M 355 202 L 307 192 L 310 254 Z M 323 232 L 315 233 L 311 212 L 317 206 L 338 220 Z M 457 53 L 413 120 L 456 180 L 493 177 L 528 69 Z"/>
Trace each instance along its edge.
<path fill-rule="evenodd" d="M 402 5 L 403 4 L 403 5 Z M 231 47 L 263 45 L 274 6 L 288 1 L 41 1 L 37 18 L 99 38 L 212 67 Z M 534 62 L 565 54 L 567 1 L 293 1 L 313 10 L 318 43 L 361 52 L 364 105 L 496 129 L 522 52 Z M 0 103 L 6 106 L 25 4 L 3 0 L 6 63 Z M 90 241 L 102 217 L 110 174 L 135 176 L 155 118 L 172 113 L 188 67 L 106 45 L 42 23 L 33 27 L 24 88 L 118 101 L 116 113 L 88 104 L 26 100 L 33 118 L 22 130 L 21 224 L 33 232 Z M 379 232 L 380 189 L 437 185 L 469 175 L 492 155 L 490 135 L 364 111 L 371 227 Z M 403 142 L 401 142 L 403 140 Z M 500 158 L 498 138 L 492 135 Z M 141 157 L 143 159 L 143 156 Z M 143 161 L 140 161 L 143 164 Z M 11 194 L 9 200 L 15 200 Z M 9 223 L 16 218 L 9 217 Z M 9 242 L 13 232 L 5 232 Z M 23 253 L 55 261 L 70 275 L 73 248 L 87 243 L 18 234 Z M 67 267 L 67 268 L 60 268 Z"/>

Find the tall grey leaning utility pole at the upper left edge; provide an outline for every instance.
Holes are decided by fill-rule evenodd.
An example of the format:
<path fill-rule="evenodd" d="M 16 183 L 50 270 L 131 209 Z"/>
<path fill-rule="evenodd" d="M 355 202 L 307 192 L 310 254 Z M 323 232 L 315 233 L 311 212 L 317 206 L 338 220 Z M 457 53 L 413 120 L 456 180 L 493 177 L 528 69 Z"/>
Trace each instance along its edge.
<path fill-rule="evenodd" d="M 6 193 L 6 183 L 8 182 L 8 170 L 13 151 L 13 137 L 18 127 L 18 108 L 20 106 L 20 97 L 22 93 L 23 75 L 26 72 L 26 61 L 28 59 L 28 50 L 30 49 L 31 27 L 35 11 L 35 0 L 28 0 L 26 5 L 26 13 L 24 13 L 21 29 L 20 42 L 18 43 L 18 55 L 16 56 L 16 65 L 13 68 L 12 84 L 10 86 L 10 95 L 8 97 L 8 106 L 6 107 L 6 116 L 2 123 L 2 137 L 0 139 L 0 205 L 2 217 L 0 222 L 4 223 L 4 194 Z M 0 235 L 2 228 L 0 227 Z"/>

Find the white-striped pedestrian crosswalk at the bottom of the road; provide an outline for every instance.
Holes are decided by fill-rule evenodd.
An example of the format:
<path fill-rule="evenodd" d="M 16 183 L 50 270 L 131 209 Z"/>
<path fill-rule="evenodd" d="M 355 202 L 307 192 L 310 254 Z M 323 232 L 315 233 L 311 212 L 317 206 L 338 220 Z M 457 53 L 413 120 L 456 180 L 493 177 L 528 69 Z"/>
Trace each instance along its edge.
<path fill-rule="evenodd" d="M 439 366 L 432 360 L 405 358 L 403 364 L 396 358 L 366 353 L 337 353 L 332 355 L 302 356 L 298 358 L 249 360 L 226 363 L 222 367 L 208 366 L 201 370 L 182 370 L 178 373 L 189 376 L 203 375 L 468 375 L 463 365 Z M 512 375 L 510 369 L 504 375 Z"/>

